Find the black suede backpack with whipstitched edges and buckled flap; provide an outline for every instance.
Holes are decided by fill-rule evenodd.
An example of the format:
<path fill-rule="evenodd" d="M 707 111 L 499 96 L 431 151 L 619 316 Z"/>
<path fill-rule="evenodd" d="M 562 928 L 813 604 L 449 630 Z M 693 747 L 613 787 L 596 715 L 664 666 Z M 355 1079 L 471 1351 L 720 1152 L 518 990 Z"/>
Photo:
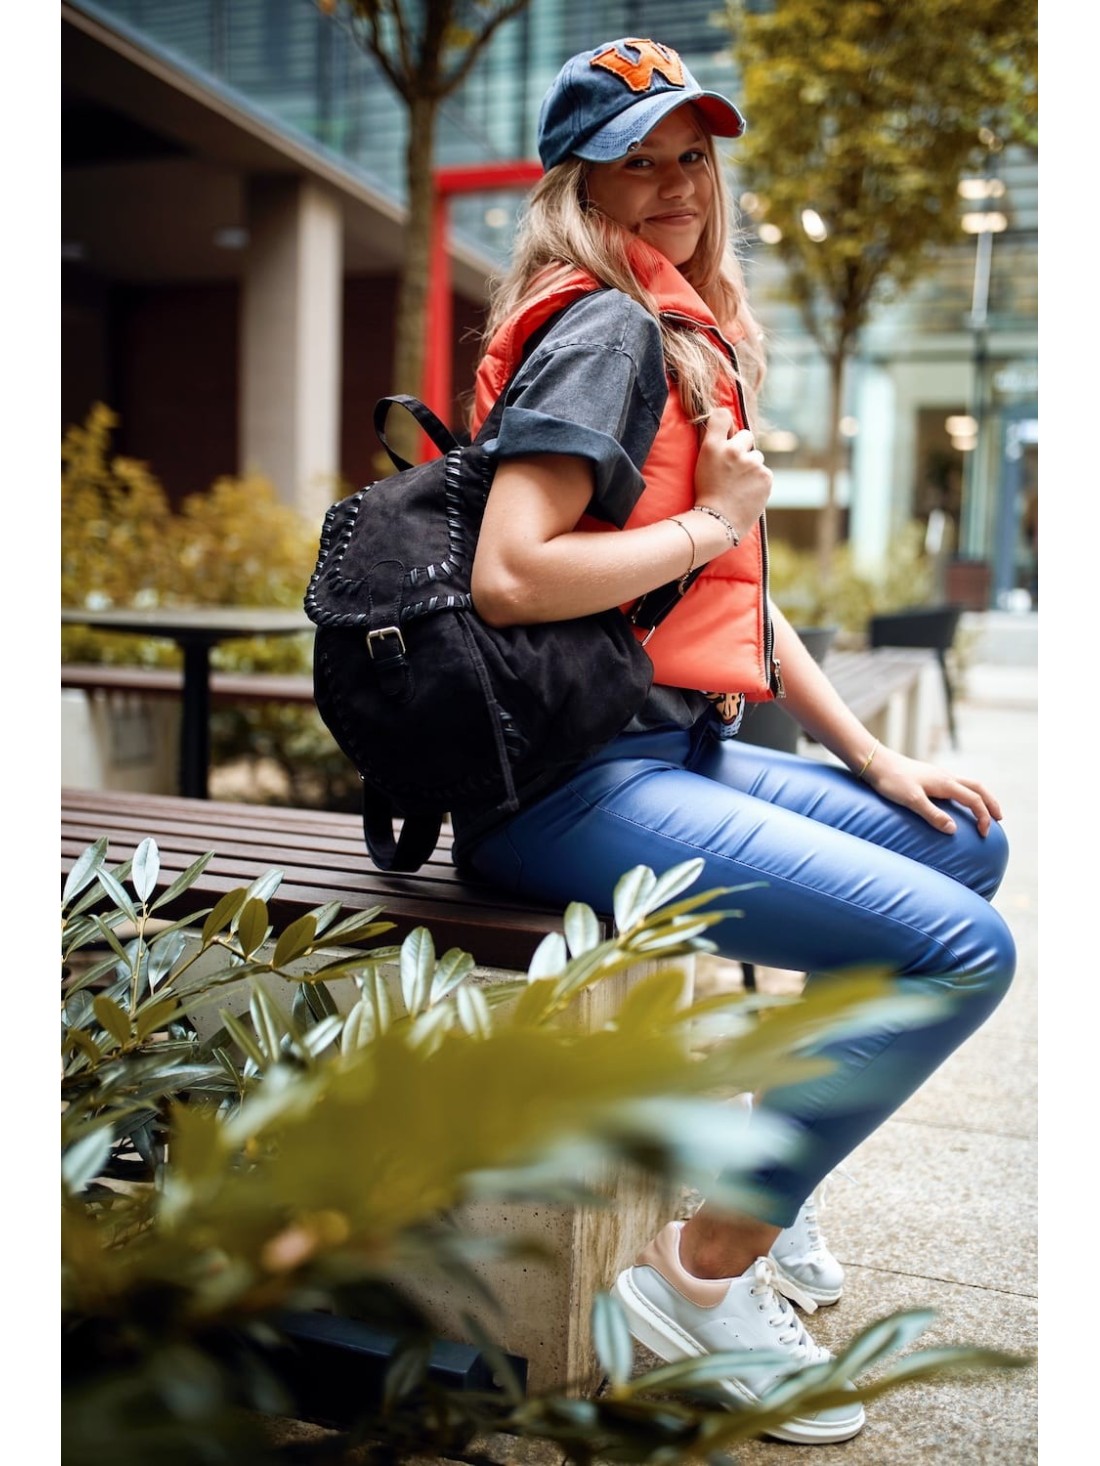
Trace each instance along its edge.
<path fill-rule="evenodd" d="M 634 625 L 656 625 L 686 588 L 654 591 L 629 619 L 612 608 L 505 629 L 481 620 L 469 575 L 493 476 L 484 444 L 505 396 L 472 443 L 415 397 L 380 399 L 374 427 L 399 472 L 324 517 L 305 597 L 314 698 L 359 771 L 364 836 L 384 871 L 418 869 L 455 809 L 518 809 L 613 739 L 653 682 Z M 411 466 L 393 452 L 395 405 L 443 457 Z"/>

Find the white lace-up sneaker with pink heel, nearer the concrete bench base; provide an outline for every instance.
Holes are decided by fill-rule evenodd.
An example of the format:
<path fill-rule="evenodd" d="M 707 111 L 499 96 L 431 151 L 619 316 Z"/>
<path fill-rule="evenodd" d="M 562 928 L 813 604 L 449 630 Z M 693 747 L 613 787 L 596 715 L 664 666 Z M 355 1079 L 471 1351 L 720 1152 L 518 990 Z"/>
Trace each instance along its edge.
<path fill-rule="evenodd" d="M 739 1278 L 697 1278 L 681 1262 L 682 1221 L 670 1221 L 619 1274 L 615 1293 L 626 1311 L 631 1334 L 659 1359 L 673 1363 L 723 1350 L 757 1350 L 771 1363 L 745 1368 L 722 1387 L 739 1404 L 757 1404 L 780 1381 L 830 1359 L 815 1344 L 782 1293 L 798 1296 L 771 1258 L 757 1261 Z M 782 1289 L 782 1293 L 780 1293 Z M 813 1312 L 811 1299 L 798 1297 Z M 776 1363 L 776 1353 L 786 1362 Z M 832 1410 L 795 1416 L 767 1434 L 799 1445 L 846 1441 L 864 1426 L 858 1400 Z"/>

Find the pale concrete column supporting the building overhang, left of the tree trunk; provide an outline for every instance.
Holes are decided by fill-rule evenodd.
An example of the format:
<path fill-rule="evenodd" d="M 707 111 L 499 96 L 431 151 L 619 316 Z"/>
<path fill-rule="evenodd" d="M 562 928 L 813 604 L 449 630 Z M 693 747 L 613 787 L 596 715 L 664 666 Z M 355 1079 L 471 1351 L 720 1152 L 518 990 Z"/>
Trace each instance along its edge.
<path fill-rule="evenodd" d="M 315 183 L 254 179 L 242 296 L 241 471 L 320 522 L 337 491 L 343 220 Z"/>

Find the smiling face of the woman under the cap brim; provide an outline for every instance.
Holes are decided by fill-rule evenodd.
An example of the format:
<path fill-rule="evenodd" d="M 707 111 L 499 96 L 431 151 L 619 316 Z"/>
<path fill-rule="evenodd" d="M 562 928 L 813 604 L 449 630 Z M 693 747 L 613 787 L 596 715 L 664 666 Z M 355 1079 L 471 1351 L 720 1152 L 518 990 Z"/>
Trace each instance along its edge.
<path fill-rule="evenodd" d="M 593 163 L 588 199 L 672 264 L 685 265 L 714 199 L 705 133 L 691 107 L 669 113 L 626 157 Z"/>

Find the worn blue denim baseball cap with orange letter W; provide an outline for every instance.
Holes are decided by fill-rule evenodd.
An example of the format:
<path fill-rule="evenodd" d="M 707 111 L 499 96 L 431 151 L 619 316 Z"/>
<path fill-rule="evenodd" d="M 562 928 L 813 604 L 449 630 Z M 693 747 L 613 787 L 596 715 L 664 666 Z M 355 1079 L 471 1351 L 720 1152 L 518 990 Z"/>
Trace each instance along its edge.
<path fill-rule="evenodd" d="M 716 136 L 745 130 L 733 103 L 704 91 L 670 45 L 607 41 L 571 57 L 554 78 L 538 113 L 538 157 L 544 169 L 568 157 L 610 163 L 688 101 Z"/>

